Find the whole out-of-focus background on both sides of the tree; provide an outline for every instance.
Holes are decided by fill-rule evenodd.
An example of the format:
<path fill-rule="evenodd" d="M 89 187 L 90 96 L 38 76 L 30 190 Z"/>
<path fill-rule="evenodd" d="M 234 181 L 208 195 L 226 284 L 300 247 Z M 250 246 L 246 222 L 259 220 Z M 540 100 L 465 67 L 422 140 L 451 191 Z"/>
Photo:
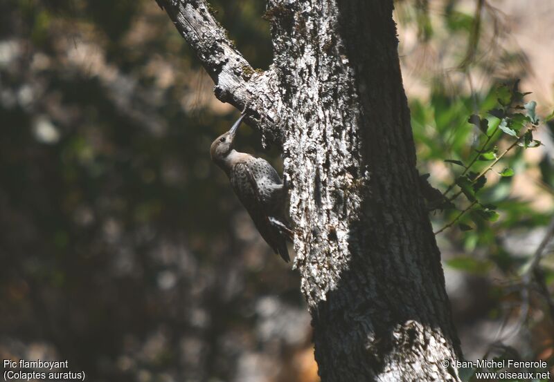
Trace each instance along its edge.
<path fill-rule="evenodd" d="M 265 1 L 211 3 L 267 68 Z M 539 114 L 552 111 L 554 4 L 395 6 L 420 173 L 445 189 L 444 160 L 472 153 L 467 118 L 499 82 L 520 78 Z M 90 381 L 319 381 L 298 274 L 210 161 L 236 117 L 154 1 L 0 2 L 1 359 L 67 359 Z M 497 222 L 438 237 L 469 359 L 552 362 L 551 301 L 519 269 L 553 215 L 553 131 L 539 126 L 544 146 L 488 182 Z M 280 169 L 248 126 L 238 146 Z"/>

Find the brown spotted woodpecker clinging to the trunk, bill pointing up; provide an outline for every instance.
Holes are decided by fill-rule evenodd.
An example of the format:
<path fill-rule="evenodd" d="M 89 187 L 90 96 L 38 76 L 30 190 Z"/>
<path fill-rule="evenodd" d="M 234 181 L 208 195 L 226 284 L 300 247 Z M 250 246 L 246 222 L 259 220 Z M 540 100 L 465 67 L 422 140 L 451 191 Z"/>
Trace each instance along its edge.
<path fill-rule="evenodd" d="M 285 261 L 289 251 L 285 239 L 292 240 L 292 231 L 285 219 L 285 186 L 277 171 L 266 160 L 233 149 L 233 141 L 244 115 L 231 130 L 217 137 L 210 147 L 210 155 L 225 171 L 231 187 L 246 207 L 262 238 Z"/>

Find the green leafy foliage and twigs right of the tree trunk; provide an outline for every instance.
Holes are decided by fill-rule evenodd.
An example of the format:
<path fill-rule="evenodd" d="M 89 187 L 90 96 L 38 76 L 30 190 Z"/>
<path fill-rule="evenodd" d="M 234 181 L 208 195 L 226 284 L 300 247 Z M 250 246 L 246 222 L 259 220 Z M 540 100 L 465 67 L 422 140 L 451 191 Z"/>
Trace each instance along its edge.
<path fill-rule="evenodd" d="M 461 252 L 446 257 L 445 265 L 472 278 L 490 279 L 494 274 L 497 287 L 490 298 L 507 300 L 510 308 L 491 307 L 491 317 L 518 316 L 518 325 L 533 327 L 530 310 L 547 312 L 545 306 L 551 298 L 548 292 L 535 293 L 536 300 L 529 296 L 535 285 L 548 291 L 554 284 L 551 255 L 546 252 L 544 261 L 539 261 L 534 249 L 519 254 L 510 243 L 514 236 L 548 225 L 552 213 L 533 205 L 535 195 L 525 200 L 513 191 L 515 181 L 522 182 L 523 173 L 534 170 L 524 153 L 542 146 L 535 139 L 537 130 L 546 128 L 554 137 L 554 126 L 545 123 L 550 116 L 542 119 L 537 103 L 524 99 L 530 93 L 521 93 L 518 86 L 518 82 L 500 84 L 484 94 L 467 97 L 434 89 L 429 104 L 412 102 L 412 126 L 418 159 L 434 164 L 421 172 L 431 173 L 431 184 L 451 202 L 444 211 L 432 215 L 434 225 L 439 227 L 436 233 L 442 236 L 440 240 L 447 240 L 455 251 Z M 452 159 L 444 160 L 445 157 Z M 443 164 L 439 179 L 434 171 L 429 171 L 437 163 Z M 554 195 L 552 158 L 544 154 L 539 169 L 539 185 L 546 195 Z M 507 312 L 503 313 L 503 309 Z M 485 354 L 482 358 L 492 356 Z M 458 370 L 464 381 L 474 381 L 475 371 Z"/>

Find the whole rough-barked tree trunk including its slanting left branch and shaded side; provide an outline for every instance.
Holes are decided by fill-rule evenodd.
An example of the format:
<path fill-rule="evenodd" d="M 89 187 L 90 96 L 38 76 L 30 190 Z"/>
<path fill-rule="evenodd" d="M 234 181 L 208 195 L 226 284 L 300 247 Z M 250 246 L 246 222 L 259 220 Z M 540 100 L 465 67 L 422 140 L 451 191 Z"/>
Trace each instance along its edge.
<path fill-rule="evenodd" d="M 269 0 L 274 64 L 251 77 L 204 1 L 157 1 L 216 96 L 247 105 L 247 122 L 283 149 L 322 381 L 458 381 L 441 365 L 461 351 L 415 170 L 392 1 Z"/>

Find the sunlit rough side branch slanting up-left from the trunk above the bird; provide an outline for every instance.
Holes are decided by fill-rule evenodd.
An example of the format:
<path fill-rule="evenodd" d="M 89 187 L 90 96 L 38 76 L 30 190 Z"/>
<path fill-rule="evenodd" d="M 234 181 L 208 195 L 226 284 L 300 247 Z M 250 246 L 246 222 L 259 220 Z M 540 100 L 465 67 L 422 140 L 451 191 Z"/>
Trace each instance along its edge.
<path fill-rule="evenodd" d="M 265 142 L 281 142 L 281 102 L 274 70 L 253 70 L 204 0 L 156 0 L 215 82 L 214 93 L 247 116 Z"/>

